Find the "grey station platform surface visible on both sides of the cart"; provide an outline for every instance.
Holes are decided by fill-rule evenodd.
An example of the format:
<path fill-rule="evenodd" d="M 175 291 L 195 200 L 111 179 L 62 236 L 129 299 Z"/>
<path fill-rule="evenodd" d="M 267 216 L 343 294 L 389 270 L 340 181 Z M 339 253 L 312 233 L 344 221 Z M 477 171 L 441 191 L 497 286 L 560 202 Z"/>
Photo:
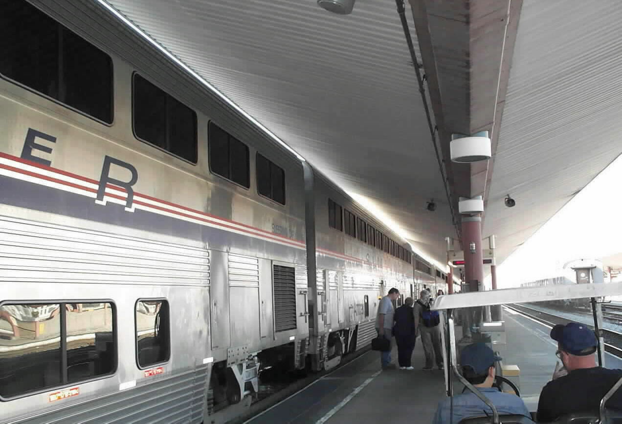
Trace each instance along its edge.
<path fill-rule="evenodd" d="M 504 364 L 521 370 L 521 398 L 536 412 L 542 387 L 555 369 L 557 345 L 550 328 L 509 308 L 504 308 L 507 344 Z M 392 353 L 397 362 L 397 352 Z M 606 354 L 606 367 L 622 368 L 622 360 Z M 423 371 L 420 339 L 412 356 L 413 371 L 380 371 L 379 353 L 369 351 L 338 368 L 281 403 L 247 421 L 267 423 L 431 423 L 445 397 L 443 371 Z M 454 385 L 455 393 L 462 385 Z"/>

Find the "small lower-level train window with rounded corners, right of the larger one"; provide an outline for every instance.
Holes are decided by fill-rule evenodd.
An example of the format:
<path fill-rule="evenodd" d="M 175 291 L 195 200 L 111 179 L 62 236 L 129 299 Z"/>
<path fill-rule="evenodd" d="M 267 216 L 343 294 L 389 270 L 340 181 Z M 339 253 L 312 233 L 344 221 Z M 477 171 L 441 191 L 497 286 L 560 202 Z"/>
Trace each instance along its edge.
<path fill-rule="evenodd" d="M 140 368 L 169 360 L 170 318 L 166 300 L 136 302 L 136 357 Z"/>

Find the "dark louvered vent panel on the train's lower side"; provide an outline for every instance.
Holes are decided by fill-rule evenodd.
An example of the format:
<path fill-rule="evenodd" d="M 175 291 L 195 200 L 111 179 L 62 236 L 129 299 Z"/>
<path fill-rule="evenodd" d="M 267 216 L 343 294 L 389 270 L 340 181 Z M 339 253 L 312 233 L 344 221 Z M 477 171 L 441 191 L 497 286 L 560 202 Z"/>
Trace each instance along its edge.
<path fill-rule="evenodd" d="M 274 327 L 276 331 L 296 328 L 296 270 L 274 265 Z"/>

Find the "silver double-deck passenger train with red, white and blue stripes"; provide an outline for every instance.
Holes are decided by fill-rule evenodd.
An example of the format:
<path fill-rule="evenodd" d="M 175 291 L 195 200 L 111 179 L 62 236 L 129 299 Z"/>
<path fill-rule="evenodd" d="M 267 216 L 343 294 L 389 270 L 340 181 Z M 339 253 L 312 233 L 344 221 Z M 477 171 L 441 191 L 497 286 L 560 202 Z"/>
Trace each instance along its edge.
<path fill-rule="evenodd" d="M 0 28 L 1 422 L 226 422 L 262 368 L 367 346 L 388 288 L 446 291 L 100 4 Z"/>

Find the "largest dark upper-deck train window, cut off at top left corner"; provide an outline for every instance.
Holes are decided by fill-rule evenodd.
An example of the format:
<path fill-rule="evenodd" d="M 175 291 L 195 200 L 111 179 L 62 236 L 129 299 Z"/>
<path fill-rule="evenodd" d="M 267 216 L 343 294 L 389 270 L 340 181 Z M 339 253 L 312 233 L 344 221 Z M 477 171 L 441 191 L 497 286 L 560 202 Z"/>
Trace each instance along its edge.
<path fill-rule="evenodd" d="M 6 78 L 113 122 L 111 58 L 29 2 L 0 2 L 0 51 Z"/>

